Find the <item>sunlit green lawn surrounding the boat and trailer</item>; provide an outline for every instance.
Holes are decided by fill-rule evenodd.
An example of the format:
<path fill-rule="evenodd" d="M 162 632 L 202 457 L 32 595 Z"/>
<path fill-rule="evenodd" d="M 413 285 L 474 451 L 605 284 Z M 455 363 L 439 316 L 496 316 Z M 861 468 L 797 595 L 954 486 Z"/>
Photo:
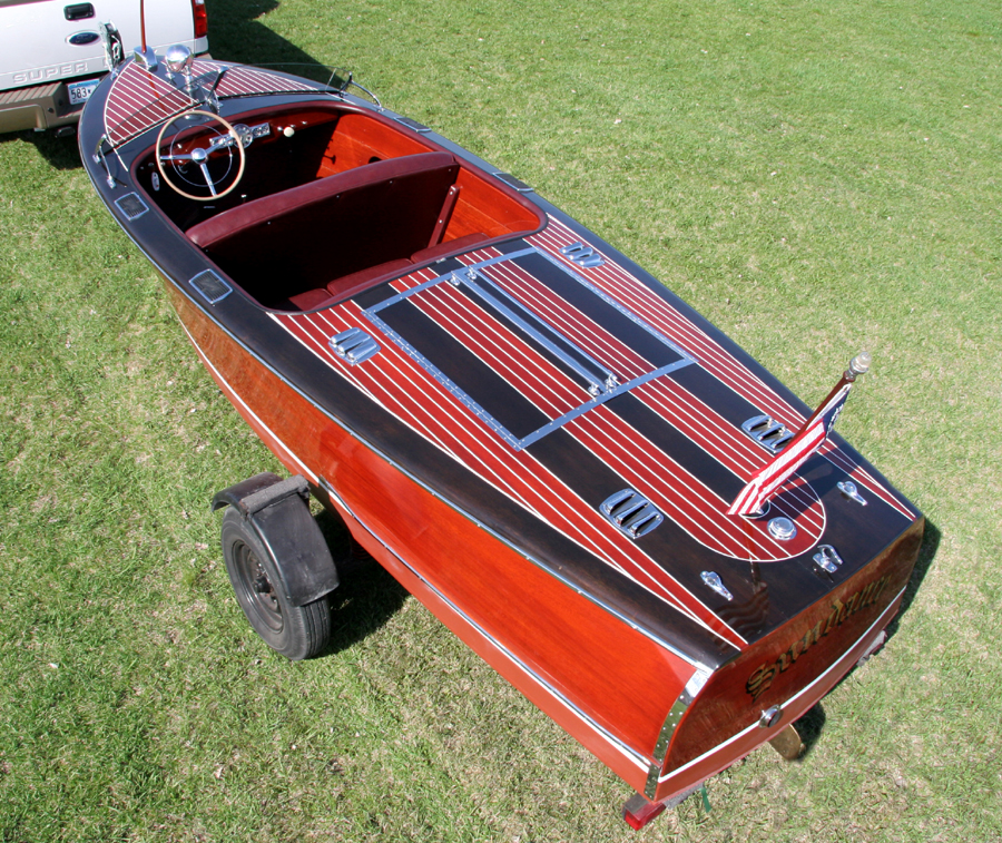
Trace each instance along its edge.
<path fill-rule="evenodd" d="M 0 138 L 0 841 L 1002 840 L 994 4 L 209 0 L 214 55 L 354 69 L 533 184 L 927 514 L 885 649 L 635 834 L 628 788 L 377 568 L 288 664 L 208 512 L 274 458 L 71 141 Z M 344 536 L 330 521 L 332 541 Z"/>

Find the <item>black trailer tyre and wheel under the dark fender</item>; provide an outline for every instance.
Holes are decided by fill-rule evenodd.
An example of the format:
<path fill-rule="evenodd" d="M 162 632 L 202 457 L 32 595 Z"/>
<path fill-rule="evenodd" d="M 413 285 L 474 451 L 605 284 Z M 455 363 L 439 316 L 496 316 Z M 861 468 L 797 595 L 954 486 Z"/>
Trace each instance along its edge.
<path fill-rule="evenodd" d="M 237 602 L 272 649 L 293 660 L 318 655 L 331 637 L 326 596 L 295 606 L 254 529 L 234 507 L 223 517 L 223 558 Z"/>

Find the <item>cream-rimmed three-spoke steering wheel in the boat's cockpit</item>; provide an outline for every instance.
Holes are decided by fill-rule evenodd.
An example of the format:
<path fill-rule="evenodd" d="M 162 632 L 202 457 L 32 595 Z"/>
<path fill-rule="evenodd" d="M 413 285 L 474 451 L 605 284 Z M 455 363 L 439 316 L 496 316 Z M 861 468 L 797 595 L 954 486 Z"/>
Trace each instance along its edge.
<path fill-rule="evenodd" d="M 194 118 L 202 118 L 193 122 Z M 167 130 L 177 122 L 187 122 L 174 133 L 166 151 L 163 150 L 164 136 Z M 226 131 L 219 131 L 218 124 Z M 164 180 L 175 192 L 186 199 L 205 202 L 206 199 L 219 199 L 226 196 L 239 184 L 244 175 L 245 141 L 239 133 L 218 115 L 212 111 L 195 109 L 186 111 L 173 120 L 168 120 L 160 127 L 157 135 L 157 169 Z M 236 149 L 236 175 L 234 171 L 234 149 Z M 186 193 L 167 175 L 165 164 L 170 165 L 175 177 L 193 187 L 208 187 L 209 196 L 196 196 Z M 219 189 L 220 185 L 230 184 Z"/>

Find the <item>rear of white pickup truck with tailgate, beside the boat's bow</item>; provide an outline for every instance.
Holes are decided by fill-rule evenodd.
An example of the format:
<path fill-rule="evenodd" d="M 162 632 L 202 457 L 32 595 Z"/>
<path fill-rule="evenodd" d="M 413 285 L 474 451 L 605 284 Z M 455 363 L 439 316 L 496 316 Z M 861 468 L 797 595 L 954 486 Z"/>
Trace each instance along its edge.
<path fill-rule="evenodd" d="M 72 134 L 110 69 L 105 24 L 120 32 L 118 49 L 144 46 L 141 6 L 145 46 L 208 50 L 205 0 L 0 0 L 0 133 Z"/>

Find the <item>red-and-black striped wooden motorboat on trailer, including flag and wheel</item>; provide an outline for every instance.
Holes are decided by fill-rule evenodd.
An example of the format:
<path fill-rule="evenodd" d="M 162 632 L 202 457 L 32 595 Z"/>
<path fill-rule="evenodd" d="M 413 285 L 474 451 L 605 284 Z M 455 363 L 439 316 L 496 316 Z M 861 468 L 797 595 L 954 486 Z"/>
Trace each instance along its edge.
<path fill-rule="evenodd" d="M 293 474 L 215 501 L 255 628 L 322 647 L 337 575 L 308 489 L 637 792 L 635 826 L 767 741 L 796 754 L 923 530 L 831 432 L 847 385 L 730 514 L 811 410 L 527 185 L 348 90 L 173 51 L 119 67 L 80 125 L 98 195 Z"/>

